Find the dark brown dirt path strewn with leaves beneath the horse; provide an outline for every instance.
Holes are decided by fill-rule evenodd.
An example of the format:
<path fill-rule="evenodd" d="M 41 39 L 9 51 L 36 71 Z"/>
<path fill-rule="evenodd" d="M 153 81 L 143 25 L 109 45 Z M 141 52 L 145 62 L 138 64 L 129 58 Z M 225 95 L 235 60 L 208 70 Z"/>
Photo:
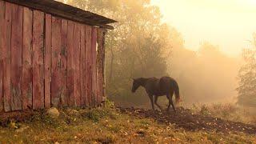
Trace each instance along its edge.
<path fill-rule="evenodd" d="M 245 124 L 242 122 L 231 122 L 222 120 L 221 118 L 213 118 L 210 116 L 203 116 L 199 114 L 192 114 L 190 110 L 182 107 L 177 109 L 175 114 L 170 112 L 159 112 L 157 110 L 145 110 L 134 108 L 118 107 L 122 113 L 132 114 L 139 118 L 154 118 L 158 122 L 166 124 L 175 124 L 185 130 L 207 130 L 216 132 L 229 133 L 230 131 L 243 132 L 245 134 L 256 134 L 256 126 Z"/>

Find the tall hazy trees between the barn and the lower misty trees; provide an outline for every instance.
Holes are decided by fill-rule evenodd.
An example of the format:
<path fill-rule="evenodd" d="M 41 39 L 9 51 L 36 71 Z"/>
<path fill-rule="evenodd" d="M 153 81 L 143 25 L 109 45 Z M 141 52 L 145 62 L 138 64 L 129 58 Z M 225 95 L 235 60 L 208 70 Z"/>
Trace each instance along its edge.
<path fill-rule="evenodd" d="M 62 1 L 63 2 L 63 1 Z M 118 21 L 106 37 L 106 94 L 115 102 L 147 102 L 131 94 L 131 78 L 166 75 L 170 31 L 150 0 L 66 0 L 67 4 Z"/>

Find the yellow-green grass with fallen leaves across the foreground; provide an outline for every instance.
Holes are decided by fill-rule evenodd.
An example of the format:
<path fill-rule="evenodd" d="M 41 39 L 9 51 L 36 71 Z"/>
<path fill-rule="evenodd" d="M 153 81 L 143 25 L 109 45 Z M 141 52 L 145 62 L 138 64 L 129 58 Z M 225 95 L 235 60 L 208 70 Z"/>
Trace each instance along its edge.
<path fill-rule="evenodd" d="M 110 108 L 60 112 L 0 127 L 0 143 L 256 143 L 255 135 L 186 131 Z"/>

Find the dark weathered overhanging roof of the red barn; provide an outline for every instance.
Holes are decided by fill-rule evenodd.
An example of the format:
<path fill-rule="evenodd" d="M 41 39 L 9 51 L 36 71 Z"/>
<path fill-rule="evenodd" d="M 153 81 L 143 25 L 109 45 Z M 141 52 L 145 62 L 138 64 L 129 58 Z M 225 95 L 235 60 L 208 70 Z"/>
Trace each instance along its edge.
<path fill-rule="evenodd" d="M 110 23 L 117 22 L 113 19 L 103 17 L 99 14 L 91 13 L 74 6 L 66 5 L 54 0 L 4 0 L 21 6 L 27 6 L 35 10 L 41 10 L 48 14 L 53 14 L 62 18 L 76 22 L 82 22 L 90 26 L 100 26 L 106 29 L 114 29 Z"/>

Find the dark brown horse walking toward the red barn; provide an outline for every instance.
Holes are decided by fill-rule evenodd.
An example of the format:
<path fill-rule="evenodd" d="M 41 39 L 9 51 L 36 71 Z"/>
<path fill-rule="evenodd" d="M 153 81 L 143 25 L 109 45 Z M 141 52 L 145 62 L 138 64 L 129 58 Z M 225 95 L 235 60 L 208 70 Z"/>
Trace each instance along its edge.
<path fill-rule="evenodd" d="M 161 106 L 158 105 L 158 97 L 164 96 L 169 100 L 169 105 L 166 110 L 170 109 L 170 105 L 173 106 L 174 111 L 174 103 L 173 103 L 173 94 L 175 93 L 175 100 L 178 103 L 179 102 L 179 89 L 178 89 L 178 83 L 174 80 L 174 78 L 170 77 L 162 77 L 160 79 L 158 78 L 137 78 L 134 79 L 132 92 L 134 93 L 139 86 L 142 86 L 145 88 L 146 93 L 150 97 L 150 102 L 152 105 L 152 109 L 154 110 L 154 104 L 158 106 L 160 110 L 162 110 Z"/>

